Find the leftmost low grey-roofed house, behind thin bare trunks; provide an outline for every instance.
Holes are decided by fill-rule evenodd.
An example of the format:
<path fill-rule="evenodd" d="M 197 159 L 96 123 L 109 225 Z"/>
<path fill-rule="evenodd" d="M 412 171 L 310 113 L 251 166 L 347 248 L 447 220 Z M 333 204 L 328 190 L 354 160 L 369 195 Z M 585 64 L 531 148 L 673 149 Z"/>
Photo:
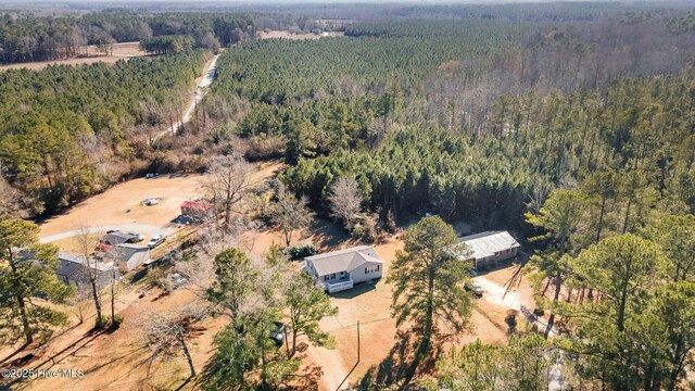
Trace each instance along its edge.
<path fill-rule="evenodd" d="M 65 285 L 76 287 L 78 290 L 89 288 L 89 273 L 88 267 L 94 270 L 97 277 L 97 287 L 102 289 L 111 283 L 113 277 L 112 269 L 114 268 L 113 262 L 104 263 L 97 258 L 91 258 L 86 262 L 84 256 L 72 254 L 65 251 L 58 253 L 58 260 L 61 263 L 61 267 L 58 269 L 58 278 Z M 116 268 L 116 278 L 118 278 L 118 270 Z"/>

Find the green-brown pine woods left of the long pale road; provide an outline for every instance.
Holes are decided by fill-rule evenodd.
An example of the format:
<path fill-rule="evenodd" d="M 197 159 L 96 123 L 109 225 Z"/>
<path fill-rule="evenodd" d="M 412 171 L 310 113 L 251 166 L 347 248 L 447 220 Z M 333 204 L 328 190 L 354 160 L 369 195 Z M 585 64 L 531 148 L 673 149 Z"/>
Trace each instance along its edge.
<path fill-rule="evenodd" d="M 206 55 L 0 74 L 3 177 L 40 213 L 103 190 L 134 162 L 149 164 L 153 133 L 180 117 L 178 100 Z"/>

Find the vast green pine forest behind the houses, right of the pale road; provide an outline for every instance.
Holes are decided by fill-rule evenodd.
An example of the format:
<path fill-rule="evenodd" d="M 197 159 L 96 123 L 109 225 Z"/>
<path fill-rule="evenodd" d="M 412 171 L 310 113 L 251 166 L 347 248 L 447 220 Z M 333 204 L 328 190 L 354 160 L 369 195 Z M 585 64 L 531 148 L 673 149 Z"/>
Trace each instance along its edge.
<path fill-rule="evenodd" d="M 686 59 L 666 56 L 672 62 L 662 67 L 650 60 L 666 55 L 660 46 L 647 46 L 630 71 L 636 52 L 615 53 L 642 47 L 627 38 L 635 30 L 680 40 L 683 53 L 692 37 L 669 33 L 660 13 L 630 21 L 540 29 L 407 21 L 367 25 L 378 27 L 370 37 L 253 42 L 223 55 L 213 91 L 244 108 L 238 135 L 282 140 L 270 155 L 295 164 L 283 180 L 326 214 L 332 184 L 352 177 L 382 220 L 432 210 L 522 226 L 526 203 L 606 169 L 623 178 L 624 193 L 652 189 L 692 211 Z M 624 38 L 596 36 L 611 29 Z M 606 59 L 587 56 L 577 67 L 567 48 L 590 43 Z M 622 71 L 603 67 L 611 61 Z M 590 72 L 597 68 L 606 73 Z M 639 184 L 624 179 L 630 173 L 640 173 Z"/>

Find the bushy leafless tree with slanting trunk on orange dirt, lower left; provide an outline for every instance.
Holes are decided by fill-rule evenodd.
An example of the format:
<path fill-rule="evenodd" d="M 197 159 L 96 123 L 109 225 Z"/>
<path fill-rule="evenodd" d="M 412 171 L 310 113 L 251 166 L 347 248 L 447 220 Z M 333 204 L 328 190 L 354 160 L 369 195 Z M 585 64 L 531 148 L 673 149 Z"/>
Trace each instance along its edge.
<path fill-rule="evenodd" d="M 144 343 L 152 349 L 152 360 L 170 360 L 182 352 L 191 377 L 195 377 L 195 366 L 187 341 L 202 330 L 199 323 L 203 316 L 203 312 L 193 308 L 164 314 L 152 313 L 147 316 L 141 326 Z"/>

